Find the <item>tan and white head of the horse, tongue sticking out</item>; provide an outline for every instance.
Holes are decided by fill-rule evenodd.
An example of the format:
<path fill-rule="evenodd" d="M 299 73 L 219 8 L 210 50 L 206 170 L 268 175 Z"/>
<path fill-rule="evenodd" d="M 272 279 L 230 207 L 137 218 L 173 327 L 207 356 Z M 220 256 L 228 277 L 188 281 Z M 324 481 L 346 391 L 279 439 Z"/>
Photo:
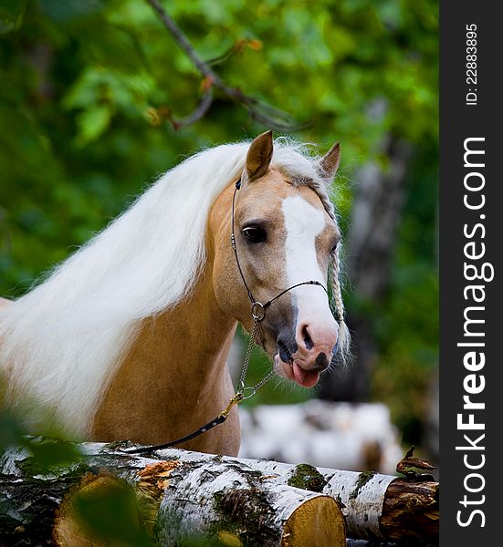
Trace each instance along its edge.
<path fill-rule="evenodd" d="M 340 149 L 335 145 L 316 162 L 316 180 L 276 164 L 273 153 L 270 131 L 253 140 L 236 190 L 233 185 L 215 202 L 215 296 L 248 331 L 253 302 L 270 303 L 255 310 L 260 343 L 278 376 L 313 387 L 334 361 L 345 328 L 337 271 L 330 291 L 339 301 L 337 320 L 326 289 L 330 265 L 338 267 L 341 233 L 325 184 L 339 166 Z"/>

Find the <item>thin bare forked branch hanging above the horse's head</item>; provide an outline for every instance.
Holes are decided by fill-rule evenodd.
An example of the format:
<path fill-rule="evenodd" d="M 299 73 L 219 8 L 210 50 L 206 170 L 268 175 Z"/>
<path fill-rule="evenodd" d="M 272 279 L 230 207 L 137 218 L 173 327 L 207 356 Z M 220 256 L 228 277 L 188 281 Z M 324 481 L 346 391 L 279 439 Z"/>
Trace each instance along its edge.
<path fill-rule="evenodd" d="M 225 81 L 219 77 L 215 70 L 205 63 L 194 49 L 194 46 L 189 42 L 187 36 L 183 34 L 183 30 L 176 25 L 173 19 L 166 13 L 159 0 L 146 0 L 152 6 L 162 24 L 170 31 L 175 42 L 180 46 L 187 57 L 191 59 L 194 67 L 207 80 L 211 82 L 211 86 L 219 89 L 226 97 L 235 100 L 241 104 L 253 119 L 263 123 L 269 129 L 278 129 L 280 131 L 297 131 L 309 127 L 310 122 L 298 123 L 288 113 L 278 108 L 271 107 L 257 98 L 249 97 L 241 89 L 228 86 Z M 213 94 L 206 92 L 198 107 L 193 113 L 181 120 L 171 120 L 173 127 L 178 129 L 182 126 L 190 125 L 195 121 L 204 117 L 213 102 Z"/>

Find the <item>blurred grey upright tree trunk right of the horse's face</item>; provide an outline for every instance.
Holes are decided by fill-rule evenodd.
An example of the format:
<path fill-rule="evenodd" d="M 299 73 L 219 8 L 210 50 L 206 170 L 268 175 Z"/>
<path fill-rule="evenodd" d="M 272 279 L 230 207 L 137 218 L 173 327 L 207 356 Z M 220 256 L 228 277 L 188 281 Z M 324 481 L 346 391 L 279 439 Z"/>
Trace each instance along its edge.
<path fill-rule="evenodd" d="M 330 400 L 366 401 L 376 347 L 367 304 L 383 304 L 390 285 L 391 261 L 403 206 L 405 170 L 410 146 L 389 139 L 387 170 L 368 162 L 355 174 L 347 272 L 356 299 L 348 318 L 353 334 L 352 366 L 339 376 L 325 377 L 320 397 Z M 379 316 L 375 317 L 379 321 Z"/>

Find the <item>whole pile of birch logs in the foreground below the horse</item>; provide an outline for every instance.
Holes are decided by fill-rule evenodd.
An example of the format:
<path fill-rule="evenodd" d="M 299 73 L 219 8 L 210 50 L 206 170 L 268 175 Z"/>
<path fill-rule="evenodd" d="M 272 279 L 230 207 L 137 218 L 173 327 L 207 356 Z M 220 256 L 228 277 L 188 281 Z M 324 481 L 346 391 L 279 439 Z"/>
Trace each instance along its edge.
<path fill-rule="evenodd" d="M 410 540 L 425 530 L 432 542 L 437 534 L 436 483 L 420 492 L 414 481 L 373 473 L 178 449 L 142 457 L 123 451 L 130 443 L 78 447 L 81 459 L 50 470 L 27 449 L 5 452 L 1 545 L 337 547 L 347 537 Z"/>

